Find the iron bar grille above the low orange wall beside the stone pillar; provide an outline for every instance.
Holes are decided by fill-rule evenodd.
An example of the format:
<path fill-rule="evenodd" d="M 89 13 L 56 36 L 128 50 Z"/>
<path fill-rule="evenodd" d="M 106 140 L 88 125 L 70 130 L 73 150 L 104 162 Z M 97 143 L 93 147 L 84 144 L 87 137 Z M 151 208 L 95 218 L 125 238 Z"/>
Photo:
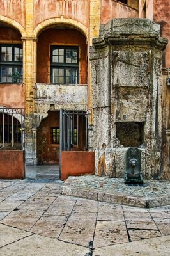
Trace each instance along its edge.
<path fill-rule="evenodd" d="M 91 150 L 91 136 L 88 131 L 90 115 L 91 109 L 61 109 L 61 150 Z"/>

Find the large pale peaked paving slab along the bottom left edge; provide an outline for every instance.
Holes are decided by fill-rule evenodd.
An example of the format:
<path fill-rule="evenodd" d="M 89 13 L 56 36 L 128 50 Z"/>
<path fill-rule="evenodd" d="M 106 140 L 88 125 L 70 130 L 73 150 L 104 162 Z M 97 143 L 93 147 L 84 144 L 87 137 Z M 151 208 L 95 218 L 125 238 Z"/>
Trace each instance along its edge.
<path fill-rule="evenodd" d="M 84 256 L 88 248 L 33 235 L 1 248 L 5 256 Z"/>

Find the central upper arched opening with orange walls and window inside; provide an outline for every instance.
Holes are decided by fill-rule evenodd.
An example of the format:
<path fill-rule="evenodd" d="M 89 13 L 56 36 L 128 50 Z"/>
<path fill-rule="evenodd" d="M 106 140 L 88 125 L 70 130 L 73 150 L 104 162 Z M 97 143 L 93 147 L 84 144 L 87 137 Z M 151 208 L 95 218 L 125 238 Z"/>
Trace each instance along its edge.
<path fill-rule="evenodd" d="M 87 84 L 87 44 L 80 31 L 52 25 L 40 33 L 37 83 Z"/>

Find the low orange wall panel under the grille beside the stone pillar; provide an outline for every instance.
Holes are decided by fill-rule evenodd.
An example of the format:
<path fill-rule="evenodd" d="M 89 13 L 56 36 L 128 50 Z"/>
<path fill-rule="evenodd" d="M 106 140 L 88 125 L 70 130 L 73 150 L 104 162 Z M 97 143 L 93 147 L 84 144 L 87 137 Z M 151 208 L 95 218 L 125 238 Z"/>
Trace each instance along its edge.
<path fill-rule="evenodd" d="M 95 172 L 95 152 L 62 151 L 61 180 Z"/>

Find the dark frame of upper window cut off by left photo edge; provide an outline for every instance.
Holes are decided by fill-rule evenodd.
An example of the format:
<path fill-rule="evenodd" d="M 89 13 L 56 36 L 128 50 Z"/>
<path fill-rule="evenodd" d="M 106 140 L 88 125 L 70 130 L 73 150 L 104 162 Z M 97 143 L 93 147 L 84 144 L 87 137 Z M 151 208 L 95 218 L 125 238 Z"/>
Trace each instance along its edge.
<path fill-rule="evenodd" d="M 1 58 L 2 58 L 2 47 L 12 47 L 12 61 L 3 61 Z M 15 48 L 19 48 L 19 49 L 22 49 L 22 54 L 20 54 L 20 51 L 19 51 L 19 56 L 22 56 L 22 61 L 15 61 Z M 21 77 L 21 81 L 11 81 L 11 82 L 8 82 L 8 81 L 2 81 L 2 74 L 3 74 L 3 71 L 2 68 L 20 68 L 20 77 Z M 14 72 L 14 71 L 12 71 Z M 6 80 L 7 80 L 7 76 L 6 77 Z M 22 47 L 22 44 L 0 44 L 0 83 L 22 83 L 22 79 L 23 79 L 23 47 Z"/>

